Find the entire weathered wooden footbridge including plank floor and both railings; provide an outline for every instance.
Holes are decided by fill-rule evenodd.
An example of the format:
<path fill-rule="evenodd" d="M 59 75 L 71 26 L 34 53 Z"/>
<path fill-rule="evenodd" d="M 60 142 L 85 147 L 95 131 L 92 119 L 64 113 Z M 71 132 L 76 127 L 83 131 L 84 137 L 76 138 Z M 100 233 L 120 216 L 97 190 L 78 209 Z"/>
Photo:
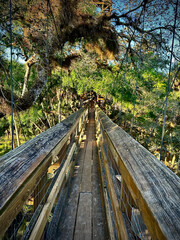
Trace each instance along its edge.
<path fill-rule="evenodd" d="M 0 239 L 180 239 L 179 178 L 98 107 L 5 154 L 0 176 Z"/>

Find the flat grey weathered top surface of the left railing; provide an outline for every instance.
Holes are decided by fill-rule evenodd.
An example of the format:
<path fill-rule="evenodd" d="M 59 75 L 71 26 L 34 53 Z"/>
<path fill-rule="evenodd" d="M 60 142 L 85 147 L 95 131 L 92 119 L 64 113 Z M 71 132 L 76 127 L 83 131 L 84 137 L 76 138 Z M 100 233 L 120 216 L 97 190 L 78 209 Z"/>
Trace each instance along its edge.
<path fill-rule="evenodd" d="M 77 124 L 84 109 L 0 158 L 0 214 L 10 198 Z M 54 154 L 55 155 L 55 154 Z"/>

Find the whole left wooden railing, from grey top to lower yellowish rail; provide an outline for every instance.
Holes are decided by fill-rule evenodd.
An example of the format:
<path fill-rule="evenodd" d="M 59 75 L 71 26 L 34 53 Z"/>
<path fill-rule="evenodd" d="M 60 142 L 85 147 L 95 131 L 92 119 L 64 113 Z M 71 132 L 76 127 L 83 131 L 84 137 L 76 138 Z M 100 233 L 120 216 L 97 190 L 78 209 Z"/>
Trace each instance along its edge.
<path fill-rule="evenodd" d="M 80 109 L 0 158 L 0 239 L 27 200 L 33 202 L 34 211 L 41 203 L 41 213 L 36 217 L 28 238 L 41 238 L 56 196 L 72 166 L 71 160 L 81 141 L 87 112 Z M 54 163 L 58 163 L 59 172 L 51 186 L 52 180 L 47 181 L 47 173 Z"/>

